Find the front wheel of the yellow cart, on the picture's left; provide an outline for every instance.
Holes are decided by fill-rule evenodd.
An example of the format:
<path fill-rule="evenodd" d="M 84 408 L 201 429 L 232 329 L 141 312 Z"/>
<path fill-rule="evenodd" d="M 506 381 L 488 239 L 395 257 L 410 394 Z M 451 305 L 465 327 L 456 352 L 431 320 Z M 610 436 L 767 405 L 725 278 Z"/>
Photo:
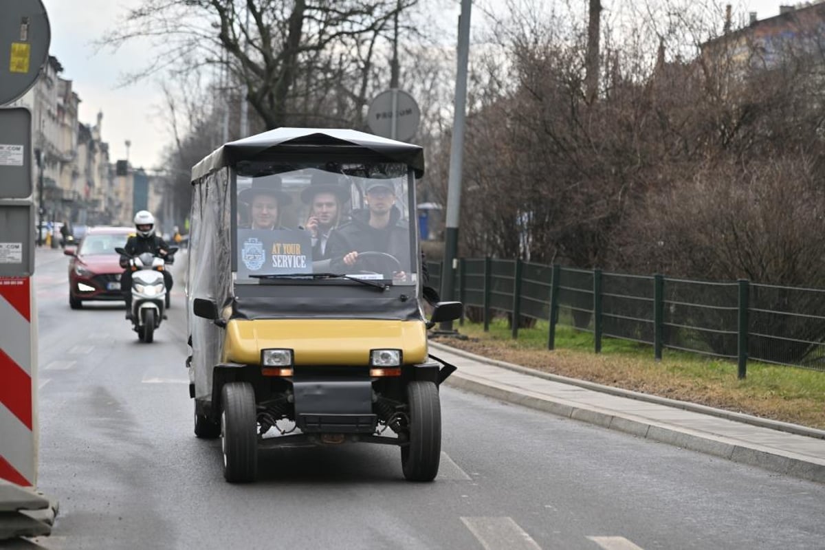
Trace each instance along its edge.
<path fill-rule="evenodd" d="M 255 391 L 247 382 L 230 382 L 221 390 L 221 450 L 224 477 L 230 483 L 255 481 L 257 416 Z"/>

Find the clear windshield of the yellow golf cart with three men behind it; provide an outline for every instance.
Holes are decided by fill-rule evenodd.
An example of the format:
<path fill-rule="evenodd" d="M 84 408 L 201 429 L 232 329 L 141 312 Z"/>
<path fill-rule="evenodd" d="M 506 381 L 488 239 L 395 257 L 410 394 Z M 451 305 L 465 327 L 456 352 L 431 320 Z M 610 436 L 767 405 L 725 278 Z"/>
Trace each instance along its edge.
<path fill-rule="evenodd" d="M 415 284 L 408 181 L 408 167 L 393 162 L 238 167 L 236 281 L 339 274 Z M 351 284 L 347 277 L 292 280 Z"/>

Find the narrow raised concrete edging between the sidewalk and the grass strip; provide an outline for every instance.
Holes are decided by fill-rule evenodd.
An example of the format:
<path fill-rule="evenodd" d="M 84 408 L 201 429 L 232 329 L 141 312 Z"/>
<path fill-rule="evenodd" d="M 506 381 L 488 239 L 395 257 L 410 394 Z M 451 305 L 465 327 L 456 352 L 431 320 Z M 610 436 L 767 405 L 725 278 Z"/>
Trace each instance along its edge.
<path fill-rule="evenodd" d="M 482 355 L 475 355 L 469 351 L 460 350 L 454 347 L 446 346 L 437 341 L 429 341 L 429 345 L 436 348 L 436 350 L 448 351 L 455 355 L 461 355 L 468 359 L 476 360 L 481 363 L 494 364 L 502 369 L 512 370 L 516 373 L 529 374 L 530 376 L 537 376 L 553 382 L 566 383 L 579 388 L 591 389 L 595 392 L 610 393 L 611 395 L 619 397 L 629 397 L 638 401 L 655 403 L 657 405 L 666 405 L 667 407 L 675 407 L 685 411 L 699 412 L 701 414 L 718 416 L 731 421 L 742 422 L 745 424 L 757 425 L 762 428 L 770 428 L 771 430 L 784 431 L 789 434 L 804 435 L 806 437 L 813 437 L 818 440 L 825 440 L 825 430 L 817 430 L 816 428 L 809 428 L 808 426 L 792 424 L 790 422 L 774 421 L 768 418 L 761 418 L 759 416 L 746 415 L 741 412 L 725 411 L 724 409 L 717 409 L 714 407 L 707 407 L 706 405 L 699 405 L 697 403 L 677 401 L 676 399 L 668 399 L 667 397 L 659 397 L 650 395 L 648 393 L 634 392 L 623 388 L 613 388 L 612 386 L 605 386 L 595 382 L 588 382 L 587 380 L 579 380 L 577 378 L 568 378 L 559 374 L 544 373 L 540 370 L 523 367 L 520 364 L 507 363 L 494 359 L 488 359 Z M 449 378 L 448 378 L 449 379 Z"/>

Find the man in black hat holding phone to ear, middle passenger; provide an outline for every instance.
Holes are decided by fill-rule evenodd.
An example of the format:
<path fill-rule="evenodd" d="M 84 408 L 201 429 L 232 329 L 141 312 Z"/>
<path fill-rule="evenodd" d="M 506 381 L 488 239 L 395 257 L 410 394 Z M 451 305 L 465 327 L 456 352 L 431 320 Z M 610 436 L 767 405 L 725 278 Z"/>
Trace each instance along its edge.
<path fill-rule="evenodd" d="M 344 203 L 349 192 L 343 186 L 332 182 L 324 173 L 313 174 L 309 187 L 301 191 L 301 200 L 309 204 L 309 218 L 304 229 L 312 237 L 312 258 L 326 260 L 329 236 L 332 229 L 342 223 Z"/>

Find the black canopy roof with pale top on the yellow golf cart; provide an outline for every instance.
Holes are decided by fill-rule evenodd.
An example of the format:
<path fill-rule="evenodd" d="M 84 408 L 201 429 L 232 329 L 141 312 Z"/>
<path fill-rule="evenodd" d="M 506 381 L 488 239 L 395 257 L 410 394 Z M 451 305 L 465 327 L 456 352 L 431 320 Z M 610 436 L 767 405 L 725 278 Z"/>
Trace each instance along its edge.
<path fill-rule="evenodd" d="M 392 162 L 404 162 L 412 167 L 416 177 L 424 174 L 424 150 L 411 143 L 381 138 L 377 135 L 359 132 L 353 129 L 328 128 L 278 128 L 262 134 L 249 136 L 225 143 L 204 157 L 192 167 L 191 181 L 219 170 L 222 167 L 245 160 L 254 160 L 263 152 L 279 153 L 286 148 L 308 146 L 318 155 L 325 153 L 325 148 L 332 153 L 342 145 L 364 148 L 379 153 Z"/>

